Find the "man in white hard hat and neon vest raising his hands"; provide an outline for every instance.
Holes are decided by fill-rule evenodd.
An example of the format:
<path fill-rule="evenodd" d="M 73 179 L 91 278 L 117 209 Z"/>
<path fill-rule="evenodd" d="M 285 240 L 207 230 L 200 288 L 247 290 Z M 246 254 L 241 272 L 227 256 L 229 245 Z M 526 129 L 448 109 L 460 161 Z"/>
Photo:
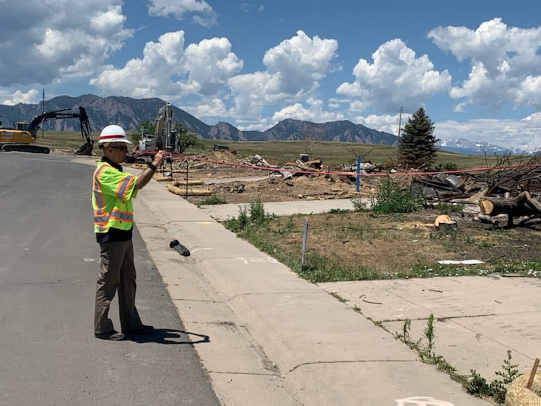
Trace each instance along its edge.
<path fill-rule="evenodd" d="M 122 340 L 124 333 L 148 334 L 154 330 L 152 326 L 141 323 L 135 308 L 131 199 L 136 197 L 138 189 L 148 184 L 162 162 L 163 151 L 154 155 L 148 168 L 133 176 L 123 172 L 120 166 L 126 160 L 128 144 L 131 142 L 122 127 L 105 127 L 98 141 L 100 149 L 103 149 L 103 159 L 98 163 L 93 179 L 94 232 L 101 247 L 94 333 L 97 338 L 107 340 Z M 109 307 L 117 290 L 122 332 L 115 331 L 109 319 Z"/>

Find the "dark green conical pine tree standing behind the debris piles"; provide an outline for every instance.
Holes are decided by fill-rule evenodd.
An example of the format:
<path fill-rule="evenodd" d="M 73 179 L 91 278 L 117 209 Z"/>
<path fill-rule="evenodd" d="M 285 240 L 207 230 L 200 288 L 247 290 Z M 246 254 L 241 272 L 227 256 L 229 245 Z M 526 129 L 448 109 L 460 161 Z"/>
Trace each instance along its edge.
<path fill-rule="evenodd" d="M 409 167 L 430 165 L 434 162 L 437 152 L 434 145 L 439 140 L 434 137 L 433 133 L 434 123 L 421 107 L 408 120 L 402 136 L 398 140 L 399 162 Z"/>

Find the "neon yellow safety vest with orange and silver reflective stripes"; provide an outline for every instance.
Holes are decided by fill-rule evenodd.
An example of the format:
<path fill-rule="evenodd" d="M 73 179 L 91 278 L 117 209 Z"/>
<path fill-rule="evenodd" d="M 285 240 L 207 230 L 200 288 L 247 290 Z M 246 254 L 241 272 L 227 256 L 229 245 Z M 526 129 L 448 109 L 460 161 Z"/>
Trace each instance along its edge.
<path fill-rule="evenodd" d="M 136 180 L 137 176 L 118 171 L 108 162 L 98 163 L 92 193 L 95 233 L 107 233 L 111 227 L 131 230 L 134 224 L 131 199 L 137 195 Z"/>

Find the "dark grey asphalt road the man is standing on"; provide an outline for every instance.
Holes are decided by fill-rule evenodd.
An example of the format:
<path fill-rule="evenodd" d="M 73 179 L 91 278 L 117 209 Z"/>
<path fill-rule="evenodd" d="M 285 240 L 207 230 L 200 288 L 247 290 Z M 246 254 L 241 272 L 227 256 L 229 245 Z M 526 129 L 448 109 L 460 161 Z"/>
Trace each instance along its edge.
<path fill-rule="evenodd" d="M 184 331 L 138 233 L 137 306 L 156 331 L 94 337 L 92 172 L 64 156 L 0 154 L 0 404 L 219 404 L 192 346 L 208 337 Z"/>

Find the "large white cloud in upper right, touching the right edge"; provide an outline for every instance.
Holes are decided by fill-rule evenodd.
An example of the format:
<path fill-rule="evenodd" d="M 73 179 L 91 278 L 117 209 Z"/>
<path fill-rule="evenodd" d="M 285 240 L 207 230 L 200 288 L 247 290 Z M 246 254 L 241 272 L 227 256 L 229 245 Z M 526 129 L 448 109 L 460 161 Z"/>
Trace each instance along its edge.
<path fill-rule="evenodd" d="M 471 61 L 469 77 L 451 89 L 451 97 L 492 112 L 506 103 L 541 109 L 541 27 L 507 27 L 493 18 L 476 30 L 438 27 L 427 37 L 459 61 Z"/>

